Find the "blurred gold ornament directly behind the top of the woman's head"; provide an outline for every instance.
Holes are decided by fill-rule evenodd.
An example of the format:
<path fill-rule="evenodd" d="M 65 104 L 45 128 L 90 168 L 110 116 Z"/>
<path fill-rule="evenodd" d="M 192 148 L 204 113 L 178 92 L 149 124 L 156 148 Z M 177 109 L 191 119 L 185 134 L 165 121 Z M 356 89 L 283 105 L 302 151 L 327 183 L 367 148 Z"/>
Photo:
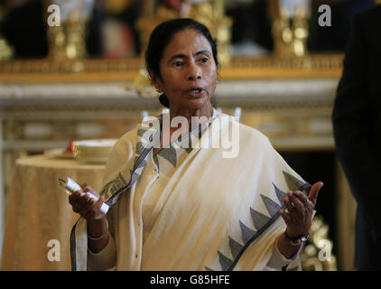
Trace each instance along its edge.
<path fill-rule="evenodd" d="M 145 1 L 144 14 L 136 23 L 142 42 L 142 51 L 145 51 L 150 34 L 159 23 L 175 18 L 193 18 L 209 28 L 210 33 L 218 42 L 219 61 L 222 66 L 227 65 L 230 61 L 228 44 L 232 21 L 225 15 L 224 1 L 178 0 L 177 2 L 178 5 L 172 7 L 167 5 L 167 1 Z"/>

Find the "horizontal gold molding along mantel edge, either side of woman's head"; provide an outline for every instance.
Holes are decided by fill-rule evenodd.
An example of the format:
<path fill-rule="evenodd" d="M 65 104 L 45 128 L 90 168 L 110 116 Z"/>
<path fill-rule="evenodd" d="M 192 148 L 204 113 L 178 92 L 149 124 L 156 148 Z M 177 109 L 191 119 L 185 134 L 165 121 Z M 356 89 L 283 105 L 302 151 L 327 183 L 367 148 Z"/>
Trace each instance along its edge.
<path fill-rule="evenodd" d="M 273 56 L 232 58 L 219 71 L 220 79 L 339 78 L 342 54 L 316 54 L 299 59 Z M 5 61 L 0 64 L 3 83 L 134 81 L 144 59 L 61 61 Z"/>

